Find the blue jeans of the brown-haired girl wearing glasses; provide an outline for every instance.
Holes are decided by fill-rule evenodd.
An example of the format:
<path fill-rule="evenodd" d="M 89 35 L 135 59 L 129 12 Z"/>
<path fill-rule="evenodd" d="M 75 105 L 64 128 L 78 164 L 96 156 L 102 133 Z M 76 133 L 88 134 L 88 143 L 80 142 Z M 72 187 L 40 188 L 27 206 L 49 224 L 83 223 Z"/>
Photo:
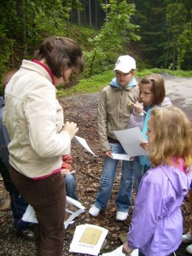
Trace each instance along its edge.
<path fill-rule="evenodd" d="M 141 166 L 139 156 L 135 157 L 134 161 L 135 161 L 135 189 L 137 194 L 142 177 L 146 172 L 148 172 L 148 169 L 150 169 L 150 167 L 147 165 Z"/>

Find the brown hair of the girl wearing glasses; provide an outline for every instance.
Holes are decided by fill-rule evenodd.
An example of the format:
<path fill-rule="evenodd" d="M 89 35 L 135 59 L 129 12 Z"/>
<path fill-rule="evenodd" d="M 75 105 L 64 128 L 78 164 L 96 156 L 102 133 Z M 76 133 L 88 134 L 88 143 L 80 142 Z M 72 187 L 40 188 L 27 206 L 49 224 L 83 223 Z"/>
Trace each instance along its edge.
<path fill-rule="evenodd" d="M 159 73 L 152 73 L 140 80 L 140 84 L 151 84 L 151 92 L 153 93 L 153 102 L 151 105 L 161 104 L 166 96 L 165 80 Z"/>

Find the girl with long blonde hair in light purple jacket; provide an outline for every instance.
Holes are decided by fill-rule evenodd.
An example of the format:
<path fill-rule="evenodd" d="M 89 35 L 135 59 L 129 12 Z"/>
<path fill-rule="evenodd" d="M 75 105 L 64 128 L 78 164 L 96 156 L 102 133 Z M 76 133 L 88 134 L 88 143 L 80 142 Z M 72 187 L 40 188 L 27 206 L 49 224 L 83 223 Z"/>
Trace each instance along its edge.
<path fill-rule="evenodd" d="M 123 253 L 166 256 L 182 241 L 180 206 L 191 183 L 191 125 L 179 108 L 154 108 L 148 120 L 152 168 L 141 181 Z"/>

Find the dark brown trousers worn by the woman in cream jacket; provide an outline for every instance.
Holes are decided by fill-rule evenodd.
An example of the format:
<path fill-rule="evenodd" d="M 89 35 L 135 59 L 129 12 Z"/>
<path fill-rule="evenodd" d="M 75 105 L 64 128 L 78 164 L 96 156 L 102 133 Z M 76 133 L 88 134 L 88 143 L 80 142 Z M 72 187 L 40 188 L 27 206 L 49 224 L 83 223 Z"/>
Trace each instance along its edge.
<path fill-rule="evenodd" d="M 10 167 L 10 176 L 20 195 L 34 208 L 35 245 L 38 256 L 63 255 L 66 191 L 61 172 L 32 180 Z"/>

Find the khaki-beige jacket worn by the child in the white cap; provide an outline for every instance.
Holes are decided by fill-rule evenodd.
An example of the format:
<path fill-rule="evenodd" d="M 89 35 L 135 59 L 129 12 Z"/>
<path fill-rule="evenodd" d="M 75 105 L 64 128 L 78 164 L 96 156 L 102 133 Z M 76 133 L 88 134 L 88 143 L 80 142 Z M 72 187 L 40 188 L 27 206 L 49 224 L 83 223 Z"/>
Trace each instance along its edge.
<path fill-rule="evenodd" d="M 132 79 L 132 87 L 121 87 L 108 85 L 102 90 L 98 106 L 98 133 L 102 152 L 110 150 L 108 137 L 117 139 L 113 131 L 127 129 L 133 107 L 129 101 L 137 102 L 139 89 L 135 79 Z"/>

